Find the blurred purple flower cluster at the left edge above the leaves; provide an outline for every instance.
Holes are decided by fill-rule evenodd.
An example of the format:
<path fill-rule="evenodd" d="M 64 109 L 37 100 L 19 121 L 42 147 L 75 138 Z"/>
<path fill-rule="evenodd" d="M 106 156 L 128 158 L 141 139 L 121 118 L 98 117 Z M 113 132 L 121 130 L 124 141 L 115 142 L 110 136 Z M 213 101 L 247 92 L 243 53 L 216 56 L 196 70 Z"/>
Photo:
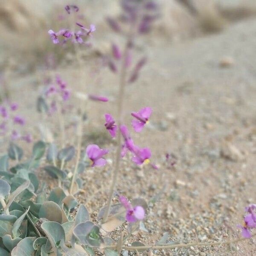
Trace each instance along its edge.
<path fill-rule="evenodd" d="M 24 140 L 32 142 L 31 134 L 22 134 L 21 127 L 25 125 L 25 119 L 17 114 L 18 105 L 15 102 L 6 102 L 0 105 L 0 135 L 10 136 L 11 140 Z"/>

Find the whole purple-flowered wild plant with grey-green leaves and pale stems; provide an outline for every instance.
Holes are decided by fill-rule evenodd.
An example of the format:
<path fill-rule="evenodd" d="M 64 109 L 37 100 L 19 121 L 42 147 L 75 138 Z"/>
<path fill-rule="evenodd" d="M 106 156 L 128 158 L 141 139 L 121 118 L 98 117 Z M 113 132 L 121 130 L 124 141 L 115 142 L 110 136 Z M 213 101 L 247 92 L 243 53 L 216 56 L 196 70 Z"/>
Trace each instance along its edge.
<path fill-rule="evenodd" d="M 137 34 L 148 32 L 154 18 L 146 15 L 146 11 L 156 10 L 157 6 L 153 1 L 122 0 L 122 8 L 124 10 L 122 19 L 125 23 L 135 29 Z M 79 8 L 71 5 L 66 6 L 65 10 L 70 14 L 78 12 Z M 109 18 L 108 22 L 116 32 L 122 31 L 121 25 L 116 20 Z M 58 35 L 56 35 L 57 38 L 55 35 L 53 37 L 52 33 L 50 35 L 53 43 L 59 40 Z M 139 166 L 150 164 L 151 167 L 157 169 L 157 166 L 151 164 L 150 149 L 141 148 L 134 143 L 123 120 L 125 85 L 130 81 L 127 80 L 127 58 L 131 43 L 134 43 L 133 37 L 134 34 L 128 35 L 122 57 L 117 47 L 113 47 L 116 58 L 121 58 L 118 69 L 120 70 L 118 115 L 113 117 L 106 113 L 105 128 L 111 137 L 116 138 L 116 158 L 108 202 L 99 210 L 97 223 L 90 219 L 89 211 L 84 204 L 79 204 L 76 195 L 83 190 L 84 181 L 81 175 L 84 171 L 87 168 L 101 168 L 107 164 L 105 156 L 109 152 L 108 149 L 92 144 L 87 145 L 87 148 L 83 150 L 81 148 L 81 127 L 79 127 L 77 148 L 65 145 L 58 149 L 53 142 L 38 141 L 33 145 L 31 156 L 25 160 L 23 149 L 11 143 L 8 153 L 0 157 L 1 256 L 87 256 L 95 255 L 96 250 L 101 252 L 104 250 L 106 256 L 118 256 L 122 249 L 134 250 L 139 255 L 140 252 L 146 250 L 151 252 L 151 250 L 176 247 L 231 244 L 256 236 L 251 233 L 256 228 L 256 205 L 251 204 L 245 209 L 244 225 L 239 226 L 243 238 L 224 242 L 173 244 L 168 243 L 169 234 L 164 233 L 154 244 L 134 241 L 131 245 L 125 245 L 130 236 L 143 226 L 148 206 L 142 198 L 134 198 L 130 201 L 124 195 L 118 195 L 119 203 L 112 204 L 122 157 L 125 154 L 131 154 L 131 161 L 134 164 Z M 136 65 L 138 77 L 140 69 L 137 67 L 138 65 Z M 131 75 L 134 76 L 134 73 Z M 56 84 L 48 87 L 44 96 L 56 96 L 65 102 L 68 98 L 66 94 L 69 94 L 66 92 L 66 84 L 57 77 Z M 86 98 L 107 101 L 101 96 L 86 95 Z M 17 106 L 11 105 L 10 108 L 11 111 L 12 108 L 16 111 Z M 1 111 L 3 117 L 8 116 L 6 110 Z M 131 113 L 134 118 L 131 126 L 135 132 L 142 132 L 151 118 L 151 113 L 152 110 L 149 107 Z M 23 119 L 20 116 L 14 116 L 12 120 L 18 125 L 23 125 Z M 56 186 L 48 190 L 46 184 L 40 184 L 35 175 L 36 170 L 44 170 L 52 177 L 52 180 L 56 180 Z M 117 241 L 113 241 L 109 236 L 102 236 L 102 230 L 111 232 L 124 223 L 127 224 L 126 235 L 120 233 Z"/>

